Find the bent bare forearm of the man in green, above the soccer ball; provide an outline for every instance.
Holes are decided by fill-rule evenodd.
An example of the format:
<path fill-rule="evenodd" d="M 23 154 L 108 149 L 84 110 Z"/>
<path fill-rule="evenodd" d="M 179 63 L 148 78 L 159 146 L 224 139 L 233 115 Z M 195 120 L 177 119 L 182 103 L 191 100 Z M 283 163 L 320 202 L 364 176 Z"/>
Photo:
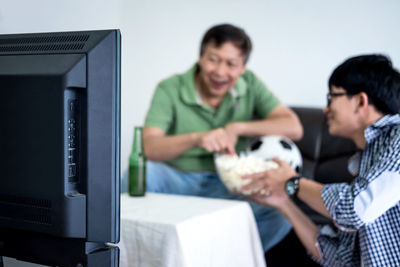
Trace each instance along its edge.
<path fill-rule="evenodd" d="M 280 104 L 264 119 L 227 124 L 226 131 L 233 138 L 239 136 L 283 135 L 294 141 L 303 136 L 303 127 L 297 115 Z"/>

